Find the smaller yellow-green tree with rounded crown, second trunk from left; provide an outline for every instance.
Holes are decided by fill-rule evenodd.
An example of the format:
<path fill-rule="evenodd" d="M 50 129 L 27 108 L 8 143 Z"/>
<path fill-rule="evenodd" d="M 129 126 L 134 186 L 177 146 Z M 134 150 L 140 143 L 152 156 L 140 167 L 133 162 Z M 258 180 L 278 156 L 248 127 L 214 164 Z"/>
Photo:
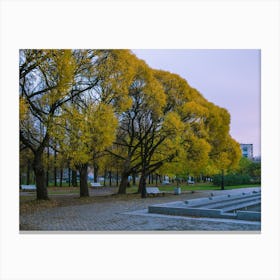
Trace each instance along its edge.
<path fill-rule="evenodd" d="M 84 108 L 62 108 L 54 122 L 52 137 L 72 169 L 80 173 L 80 196 L 89 196 L 87 171 L 94 157 L 110 146 L 115 138 L 117 119 L 112 106 L 88 103 Z"/>

